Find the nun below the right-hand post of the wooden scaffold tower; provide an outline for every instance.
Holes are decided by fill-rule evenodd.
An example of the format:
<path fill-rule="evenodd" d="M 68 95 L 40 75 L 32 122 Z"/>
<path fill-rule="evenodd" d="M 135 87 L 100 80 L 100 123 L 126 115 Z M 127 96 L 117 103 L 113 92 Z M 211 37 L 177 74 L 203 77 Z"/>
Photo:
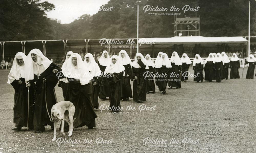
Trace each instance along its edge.
<path fill-rule="evenodd" d="M 200 57 L 199 54 L 196 54 L 193 60 L 194 81 L 203 82 L 204 80 L 203 69 L 204 69 L 204 60 Z"/>

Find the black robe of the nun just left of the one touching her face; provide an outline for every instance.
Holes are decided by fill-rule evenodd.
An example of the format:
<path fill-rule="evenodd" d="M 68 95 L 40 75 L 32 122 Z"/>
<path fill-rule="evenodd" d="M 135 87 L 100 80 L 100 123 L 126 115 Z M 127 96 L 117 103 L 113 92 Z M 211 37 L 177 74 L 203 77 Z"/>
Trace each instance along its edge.
<path fill-rule="evenodd" d="M 127 64 L 124 65 L 124 73 L 125 76 L 122 78 L 122 93 L 121 93 L 121 99 L 124 98 L 132 98 L 132 87 L 131 87 L 131 65 Z M 127 74 L 129 77 L 126 77 Z"/>

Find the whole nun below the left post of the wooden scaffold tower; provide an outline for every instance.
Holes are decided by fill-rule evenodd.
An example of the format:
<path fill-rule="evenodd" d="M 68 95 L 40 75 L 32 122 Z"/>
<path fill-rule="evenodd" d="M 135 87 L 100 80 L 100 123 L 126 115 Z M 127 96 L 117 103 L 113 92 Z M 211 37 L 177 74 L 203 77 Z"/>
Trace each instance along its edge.
<path fill-rule="evenodd" d="M 182 61 L 180 60 L 177 52 L 173 52 L 170 62 L 172 65 L 172 72 L 170 74 L 170 81 L 168 82 L 169 89 L 172 87 L 176 87 L 176 89 L 181 88 L 180 72 L 182 71 Z"/>

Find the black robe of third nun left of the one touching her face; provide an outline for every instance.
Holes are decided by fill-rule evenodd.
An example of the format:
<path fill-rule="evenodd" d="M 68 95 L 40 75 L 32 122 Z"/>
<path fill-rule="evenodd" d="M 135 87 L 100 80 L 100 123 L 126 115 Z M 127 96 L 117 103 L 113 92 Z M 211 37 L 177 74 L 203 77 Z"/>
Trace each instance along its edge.
<path fill-rule="evenodd" d="M 100 71 L 102 74 L 104 74 L 104 71 L 107 66 L 100 65 L 100 62 L 98 62 L 98 65 L 100 67 Z M 106 98 L 109 97 L 109 82 L 104 75 L 99 77 L 99 85 L 100 85 L 100 97 L 99 98 Z"/>

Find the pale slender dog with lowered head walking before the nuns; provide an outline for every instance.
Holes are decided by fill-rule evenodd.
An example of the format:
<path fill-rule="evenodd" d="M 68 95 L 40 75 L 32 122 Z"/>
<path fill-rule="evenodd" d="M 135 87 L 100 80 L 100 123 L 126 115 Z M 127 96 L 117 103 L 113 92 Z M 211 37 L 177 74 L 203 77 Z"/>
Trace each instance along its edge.
<path fill-rule="evenodd" d="M 65 135 L 64 133 L 64 120 L 69 125 L 69 131 L 68 136 L 72 135 L 74 126 L 73 121 L 76 119 L 73 119 L 74 113 L 76 108 L 70 101 L 60 101 L 59 103 L 55 104 L 51 108 L 51 119 L 53 120 L 54 124 L 54 136 L 52 141 L 56 140 L 56 129 L 57 129 L 57 123 L 61 120 L 61 130 L 60 132 Z"/>

